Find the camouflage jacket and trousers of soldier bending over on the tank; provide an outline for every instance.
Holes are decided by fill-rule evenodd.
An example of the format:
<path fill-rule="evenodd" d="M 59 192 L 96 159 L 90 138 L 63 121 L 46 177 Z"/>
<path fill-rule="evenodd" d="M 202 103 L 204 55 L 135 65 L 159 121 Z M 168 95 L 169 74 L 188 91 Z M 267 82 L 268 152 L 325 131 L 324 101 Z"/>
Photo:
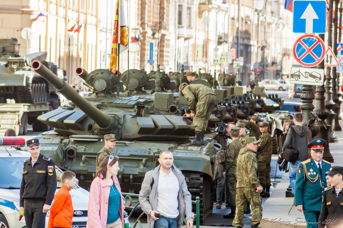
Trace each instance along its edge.
<path fill-rule="evenodd" d="M 184 88 L 183 94 L 190 104 L 191 112 L 195 113 L 193 118 L 195 131 L 206 131 L 216 102 L 215 93 L 205 85 L 191 84 Z"/>

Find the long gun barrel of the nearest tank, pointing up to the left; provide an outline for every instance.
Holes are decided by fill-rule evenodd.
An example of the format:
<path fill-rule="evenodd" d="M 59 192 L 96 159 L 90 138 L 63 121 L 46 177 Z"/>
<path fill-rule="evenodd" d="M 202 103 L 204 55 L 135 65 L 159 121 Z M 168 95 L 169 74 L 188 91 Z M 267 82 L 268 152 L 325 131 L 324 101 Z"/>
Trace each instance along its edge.
<path fill-rule="evenodd" d="M 105 115 L 102 111 L 89 103 L 88 100 L 80 96 L 74 88 L 66 83 L 66 81 L 58 78 L 42 63 L 39 61 L 33 61 L 31 67 L 45 80 L 54 85 L 56 90 L 63 94 L 63 96 L 68 100 L 71 100 L 77 107 L 86 113 L 86 115 L 89 116 L 100 128 L 108 128 L 111 125 L 111 119 L 109 116 Z"/>

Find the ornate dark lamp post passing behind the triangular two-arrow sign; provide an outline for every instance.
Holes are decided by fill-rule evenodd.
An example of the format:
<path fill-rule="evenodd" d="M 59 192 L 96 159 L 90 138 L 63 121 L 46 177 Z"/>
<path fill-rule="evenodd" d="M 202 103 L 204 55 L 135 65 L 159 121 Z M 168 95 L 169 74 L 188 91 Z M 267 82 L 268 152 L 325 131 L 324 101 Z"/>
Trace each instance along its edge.
<path fill-rule="evenodd" d="M 328 23 L 328 46 L 332 47 L 332 13 L 333 13 L 333 1 L 329 3 L 329 23 Z M 329 111 L 329 117 L 327 119 L 329 127 L 329 142 L 337 142 L 338 139 L 334 132 L 334 119 L 336 113 L 332 111 L 335 103 L 332 100 L 332 68 L 327 67 L 326 71 L 326 83 L 325 83 L 325 108 Z"/>

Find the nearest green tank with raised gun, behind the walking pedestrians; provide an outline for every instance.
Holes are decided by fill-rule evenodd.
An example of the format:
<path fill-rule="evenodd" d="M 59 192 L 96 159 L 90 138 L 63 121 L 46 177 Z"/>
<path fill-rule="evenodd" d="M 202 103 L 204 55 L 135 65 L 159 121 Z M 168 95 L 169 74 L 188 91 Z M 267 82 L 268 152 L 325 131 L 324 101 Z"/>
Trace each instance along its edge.
<path fill-rule="evenodd" d="M 158 165 L 159 153 L 171 150 L 192 199 L 200 197 L 201 220 L 212 212 L 221 146 L 211 138 L 201 147 L 185 145 L 194 134 L 194 126 L 187 118 L 175 115 L 173 93 L 156 92 L 150 95 L 152 99 L 120 98 L 116 96 L 120 84 L 116 75 L 96 69 L 81 72 L 80 77 L 93 88 L 88 96 L 81 97 L 39 61 L 32 62 L 32 68 L 71 101 L 70 106 L 38 117 L 54 128 L 38 136 L 40 152 L 61 169 L 76 173 L 80 186 L 89 188 L 95 177 L 97 152 L 104 146 L 104 135 L 111 133 L 117 138 L 112 153 L 119 156 L 118 179 L 123 192 L 139 193 L 145 173 Z"/>

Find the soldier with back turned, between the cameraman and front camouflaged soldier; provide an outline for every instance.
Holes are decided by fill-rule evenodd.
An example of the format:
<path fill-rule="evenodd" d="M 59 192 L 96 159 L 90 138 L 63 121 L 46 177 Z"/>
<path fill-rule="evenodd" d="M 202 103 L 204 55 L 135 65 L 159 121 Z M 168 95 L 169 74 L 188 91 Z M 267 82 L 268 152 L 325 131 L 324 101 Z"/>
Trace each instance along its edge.
<path fill-rule="evenodd" d="M 236 215 L 236 164 L 238 153 L 240 149 L 244 148 L 244 145 L 238 140 L 239 128 L 231 128 L 230 135 L 233 141 L 229 144 L 226 150 L 224 172 L 226 174 L 226 198 L 230 204 L 231 212 L 224 215 L 224 218 L 234 218 Z"/>

